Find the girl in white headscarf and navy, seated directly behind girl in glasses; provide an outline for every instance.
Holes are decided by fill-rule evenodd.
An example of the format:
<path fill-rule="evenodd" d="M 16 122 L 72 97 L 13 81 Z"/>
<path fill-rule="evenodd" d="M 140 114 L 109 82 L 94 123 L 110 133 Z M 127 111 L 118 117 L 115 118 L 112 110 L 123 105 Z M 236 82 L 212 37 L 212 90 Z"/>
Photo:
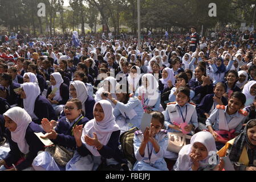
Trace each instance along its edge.
<path fill-rule="evenodd" d="M 93 107 L 95 105 L 95 100 L 93 97 L 89 96 L 87 93 L 87 88 L 82 81 L 73 81 L 70 84 L 70 96 L 72 98 L 78 98 L 82 102 L 82 110 L 84 116 L 88 119 L 93 119 Z"/>

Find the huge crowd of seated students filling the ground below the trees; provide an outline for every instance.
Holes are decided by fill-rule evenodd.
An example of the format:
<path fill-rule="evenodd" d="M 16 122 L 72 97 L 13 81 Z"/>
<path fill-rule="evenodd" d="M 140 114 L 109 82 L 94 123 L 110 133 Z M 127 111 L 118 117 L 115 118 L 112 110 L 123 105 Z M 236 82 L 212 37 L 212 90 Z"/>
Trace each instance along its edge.
<path fill-rule="evenodd" d="M 0 170 L 256 171 L 256 44 L 224 37 L 36 40 L 0 48 Z M 129 165 L 120 135 L 135 132 Z M 56 160 L 41 138 L 66 154 Z M 190 144 L 169 151 L 168 133 Z M 4 148 L 9 144 L 9 148 Z M 52 147 L 52 146 L 51 146 Z M 6 152 L 7 151 L 7 152 Z M 217 159 L 210 163 L 211 152 Z"/>

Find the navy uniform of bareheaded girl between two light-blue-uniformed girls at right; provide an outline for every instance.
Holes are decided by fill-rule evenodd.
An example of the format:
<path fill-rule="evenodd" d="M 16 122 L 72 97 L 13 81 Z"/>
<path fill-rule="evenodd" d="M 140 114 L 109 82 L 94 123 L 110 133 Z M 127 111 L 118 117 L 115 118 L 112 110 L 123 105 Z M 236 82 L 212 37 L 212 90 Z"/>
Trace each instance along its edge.
<path fill-rule="evenodd" d="M 212 113 L 212 111 L 218 105 L 216 101 L 213 100 L 214 94 L 206 95 L 199 105 L 197 105 L 197 114 L 200 117 L 205 117 L 205 113 Z M 224 105 L 227 105 L 227 98 L 221 97 L 221 101 Z"/>

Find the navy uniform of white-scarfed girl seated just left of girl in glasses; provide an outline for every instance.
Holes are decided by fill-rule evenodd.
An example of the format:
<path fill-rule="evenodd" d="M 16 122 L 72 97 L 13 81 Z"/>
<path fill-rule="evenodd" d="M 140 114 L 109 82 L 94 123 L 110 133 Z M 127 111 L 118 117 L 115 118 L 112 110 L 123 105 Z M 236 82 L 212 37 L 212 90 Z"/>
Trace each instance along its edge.
<path fill-rule="evenodd" d="M 38 96 L 35 100 L 35 107 L 34 107 L 34 113 L 38 119 L 36 119 L 34 122 L 41 124 L 41 121 L 43 118 L 51 120 L 57 120 L 58 117 L 55 114 L 54 107 L 52 107 L 51 102 L 47 100 L 47 98 L 44 98 L 43 96 Z"/>

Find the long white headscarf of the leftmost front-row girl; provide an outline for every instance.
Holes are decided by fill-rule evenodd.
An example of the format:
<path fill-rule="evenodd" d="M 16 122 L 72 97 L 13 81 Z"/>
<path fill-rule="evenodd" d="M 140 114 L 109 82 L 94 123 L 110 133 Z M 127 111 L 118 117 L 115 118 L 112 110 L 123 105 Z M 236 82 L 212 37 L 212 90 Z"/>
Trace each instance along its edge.
<path fill-rule="evenodd" d="M 26 130 L 32 119 L 25 109 L 21 107 L 13 107 L 7 110 L 4 116 L 9 117 L 17 124 L 17 129 L 11 131 L 11 139 L 18 144 L 19 150 L 23 154 L 29 153 L 29 144 L 25 139 Z"/>

